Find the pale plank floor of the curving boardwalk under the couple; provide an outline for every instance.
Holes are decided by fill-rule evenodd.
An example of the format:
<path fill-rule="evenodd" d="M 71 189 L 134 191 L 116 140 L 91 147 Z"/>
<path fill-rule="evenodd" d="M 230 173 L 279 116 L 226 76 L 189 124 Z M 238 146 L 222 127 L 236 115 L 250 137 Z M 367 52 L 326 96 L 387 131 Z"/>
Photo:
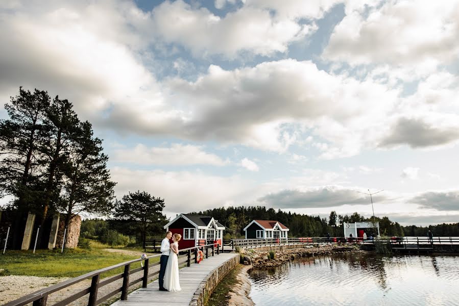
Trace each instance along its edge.
<path fill-rule="evenodd" d="M 158 290 L 158 280 L 148 284 L 147 288 L 140 288 L 128 295 L 126 301 L 118 300 L 114 306 L 134 305 L 164 305 L 164 306 L 188 306 L 198 286 L 204 278 L 226 261 L 239 256 L 238 253 L 220 253 L 219 255 L 204 259 L 200 264 L 192 264 L 190 267 L 180 269 L 180 286 L 182 291 L 167 292 Z"/>

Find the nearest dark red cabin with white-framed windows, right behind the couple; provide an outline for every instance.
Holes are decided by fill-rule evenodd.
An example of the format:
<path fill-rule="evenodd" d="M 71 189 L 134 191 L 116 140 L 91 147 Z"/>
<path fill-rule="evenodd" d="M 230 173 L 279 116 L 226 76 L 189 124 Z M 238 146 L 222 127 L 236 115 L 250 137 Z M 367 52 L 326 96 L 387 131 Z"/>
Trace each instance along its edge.
<path fill-rule="evenodd" d="M 185 249 L 212 243 L 222 245 L 225 226 L 212 217 L 180 214 L 164 229 L 182 235 L 179 249 Z"/>

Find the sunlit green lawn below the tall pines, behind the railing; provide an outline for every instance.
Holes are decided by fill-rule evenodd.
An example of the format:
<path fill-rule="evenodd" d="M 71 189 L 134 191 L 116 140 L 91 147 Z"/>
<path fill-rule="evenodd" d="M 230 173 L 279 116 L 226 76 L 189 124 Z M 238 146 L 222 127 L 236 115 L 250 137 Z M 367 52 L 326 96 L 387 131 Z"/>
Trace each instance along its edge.
<path fill-rule="evenodd" d="M 9 250 L 3 255 L 0 254 L 0 267 L 5 269 L 3 275 L 76 277 L 133 259 L 138 259 L 138 257 L 104 252 L 94 248 L 91 250 L 67 249 L 62 254 L 60 250 L 37 250 L 35 254 L 32 251 Z M 153 258 L 150 261 L 158 260 L 159 258 Z M 131 269 L 138 267 L 140 263 L 131 265 Z M 122 272 L 123 267 L 106 272 L 101 277 Z"/>

